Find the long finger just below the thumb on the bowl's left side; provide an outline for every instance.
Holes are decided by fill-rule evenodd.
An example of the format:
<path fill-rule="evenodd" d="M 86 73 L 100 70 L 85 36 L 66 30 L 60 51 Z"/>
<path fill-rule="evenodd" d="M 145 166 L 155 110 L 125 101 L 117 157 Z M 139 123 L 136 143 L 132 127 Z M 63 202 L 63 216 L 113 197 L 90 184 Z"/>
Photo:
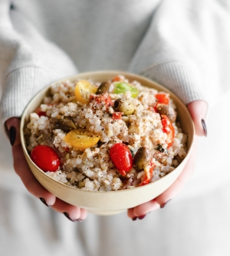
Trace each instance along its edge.
<path fill-rule="evenodd" d="M 15 172 L 21 178 L 25 188 L 27 188 L 31 194 L 35 195 L 36 198 L 43 198 L 48 205 L 53 205 L 56 199 L 55 196 L 41 186 L 32 174 L 28 163 L 25 160 L 21 145 L 14 145 L 12 151 Z"/>

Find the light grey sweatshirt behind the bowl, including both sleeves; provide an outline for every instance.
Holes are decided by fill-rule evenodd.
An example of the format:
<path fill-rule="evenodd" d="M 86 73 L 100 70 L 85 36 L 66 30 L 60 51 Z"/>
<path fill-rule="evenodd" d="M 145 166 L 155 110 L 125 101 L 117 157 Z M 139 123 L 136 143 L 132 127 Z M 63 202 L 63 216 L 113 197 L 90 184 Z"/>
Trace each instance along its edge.
<path fill-rule="evenodd" d="M 1 0 L 2 122 L 79 71 L 131 71 L 202 99 L 229 64 L 229 12 L 227 0 Z"/>

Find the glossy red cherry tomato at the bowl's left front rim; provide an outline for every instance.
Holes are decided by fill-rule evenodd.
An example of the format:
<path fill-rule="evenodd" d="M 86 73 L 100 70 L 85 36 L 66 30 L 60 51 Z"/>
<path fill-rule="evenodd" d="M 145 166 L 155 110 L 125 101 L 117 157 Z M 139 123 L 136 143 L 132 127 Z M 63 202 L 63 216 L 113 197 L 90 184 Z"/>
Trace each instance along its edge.
<path fill-rule="evenodd" d="M 38 145 L 31 151 L 31 159 L 42 171 L 57 171 L 61 165 L 60 158 L 53 148 Z"/>

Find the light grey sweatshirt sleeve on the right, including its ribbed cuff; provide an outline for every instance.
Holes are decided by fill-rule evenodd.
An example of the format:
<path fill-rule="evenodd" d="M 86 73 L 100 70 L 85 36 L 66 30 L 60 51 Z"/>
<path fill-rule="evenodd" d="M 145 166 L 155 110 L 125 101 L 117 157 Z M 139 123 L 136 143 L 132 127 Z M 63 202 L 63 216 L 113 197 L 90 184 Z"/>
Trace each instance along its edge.
<path fill-rule="evenodd" d="M 229 52 L 229 7 L 216 0 L 160 2 L 130 71 L 169 88 L 185 104 L 208 101 L 209 80 L 215 81 L 220 60 Z"/>

